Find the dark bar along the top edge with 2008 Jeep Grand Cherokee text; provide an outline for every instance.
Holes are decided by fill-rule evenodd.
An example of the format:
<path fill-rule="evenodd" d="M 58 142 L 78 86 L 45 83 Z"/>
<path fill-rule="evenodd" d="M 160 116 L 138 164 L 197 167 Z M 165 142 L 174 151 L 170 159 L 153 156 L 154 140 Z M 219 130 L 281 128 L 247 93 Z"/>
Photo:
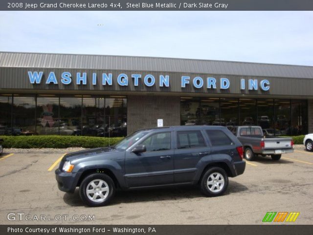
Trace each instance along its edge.
<path fill-rule="evenodd" d="M 0 11 L 312 11 L 313 0 L 1 0 Z"/>

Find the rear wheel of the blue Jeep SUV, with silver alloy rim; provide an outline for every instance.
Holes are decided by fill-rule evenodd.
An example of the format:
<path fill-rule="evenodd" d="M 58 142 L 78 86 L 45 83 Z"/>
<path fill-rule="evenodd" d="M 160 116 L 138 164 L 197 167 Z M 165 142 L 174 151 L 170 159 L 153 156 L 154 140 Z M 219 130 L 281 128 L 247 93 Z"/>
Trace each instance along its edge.
<path fill-rule="evenodd" d="M 213 179 L 214 178 L 214 179 Z M 213 185 L 213 182 L 216 183 Z M 212 183 L 211 183 L 212 182 Z M 211 167 L 207 169 L 200 182 L 201 192 L 209 197 L 216 197 L 222 195 L 228 187 L 228 176 L 223 168 Z"/>

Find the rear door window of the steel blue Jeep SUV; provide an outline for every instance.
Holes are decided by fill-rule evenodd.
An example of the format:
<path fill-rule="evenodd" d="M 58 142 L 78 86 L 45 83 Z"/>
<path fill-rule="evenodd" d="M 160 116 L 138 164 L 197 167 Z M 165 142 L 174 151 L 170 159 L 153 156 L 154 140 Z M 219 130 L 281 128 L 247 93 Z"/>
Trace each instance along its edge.
<path fill-rule="evenodd" d="M 199 148 L 205 146 L 201 131 L 177 132 L 177 148 Z"/>

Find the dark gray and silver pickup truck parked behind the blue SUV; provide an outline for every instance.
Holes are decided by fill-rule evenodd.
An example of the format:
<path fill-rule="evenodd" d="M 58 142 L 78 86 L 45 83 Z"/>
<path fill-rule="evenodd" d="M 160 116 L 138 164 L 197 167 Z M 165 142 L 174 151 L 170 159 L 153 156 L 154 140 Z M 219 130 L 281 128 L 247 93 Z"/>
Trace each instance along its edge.
<path fill-rule="evenodd" d="M 256 155 L 270 155 L 272 160 L 278 161 L 283 153 L 293 152 L 292 138 L 266 137 L 261 126 L 235 126 L 231 132 L 244 146 L 248 161 L 253 161 Z"/>

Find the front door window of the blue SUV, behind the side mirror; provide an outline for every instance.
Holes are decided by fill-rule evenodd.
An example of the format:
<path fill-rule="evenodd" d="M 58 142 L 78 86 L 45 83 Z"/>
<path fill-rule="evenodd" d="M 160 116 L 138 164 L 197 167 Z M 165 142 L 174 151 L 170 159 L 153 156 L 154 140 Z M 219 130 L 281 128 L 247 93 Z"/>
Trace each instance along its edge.
<path fill-rule="evenodd" d="M 156 133 L 142 141 L 147 148 L 147 152 L 171 149 L 171 132 Z"/>

